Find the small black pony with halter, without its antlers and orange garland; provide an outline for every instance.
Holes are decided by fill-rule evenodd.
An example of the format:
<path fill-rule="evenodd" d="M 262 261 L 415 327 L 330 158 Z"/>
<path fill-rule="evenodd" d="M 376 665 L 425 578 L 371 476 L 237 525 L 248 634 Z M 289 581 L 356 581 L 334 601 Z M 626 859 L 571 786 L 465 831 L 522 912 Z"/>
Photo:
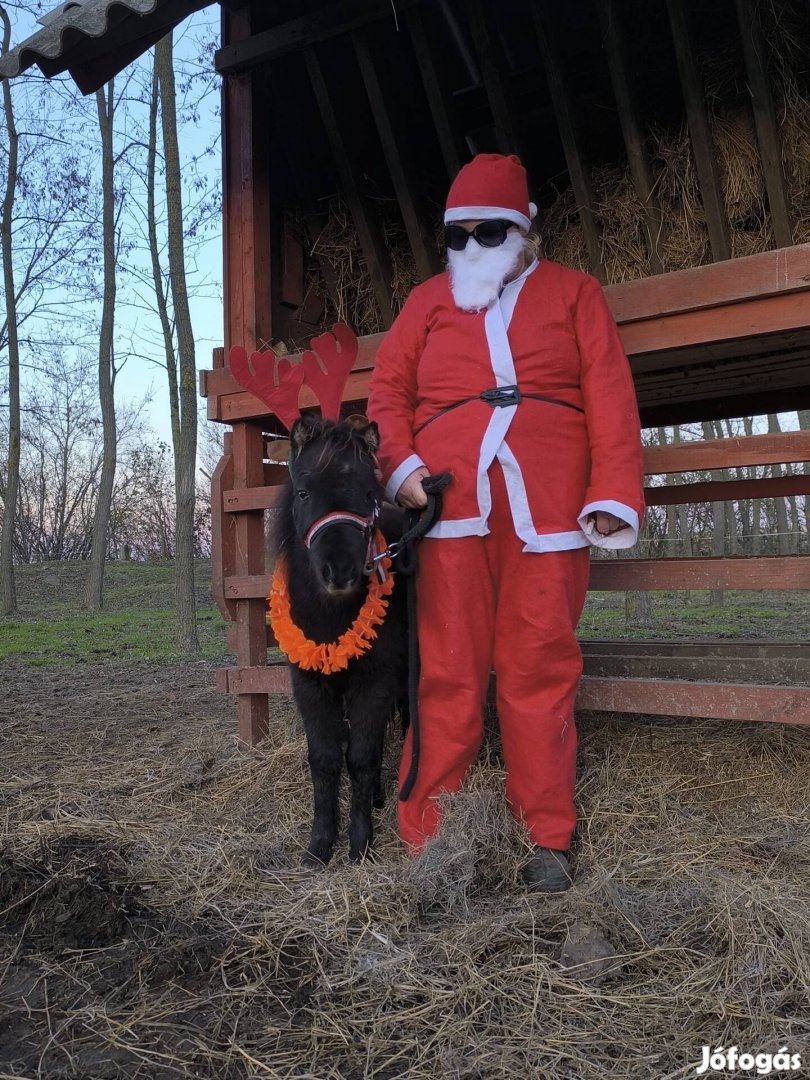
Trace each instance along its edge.
<path fill-rule="evenodd" d="M 289 478 L 274 545 L 284 561 L 292 621 L 319 644 L 336 642 L 366 600 L 370 541 L 381 524 L 377 446 L 375 423 L 352 427 L 302 418 L 291 431 Z M 382 523 L 389 541 L 395 539 L 390 532 L 396 525 L 396 518 Z M 342 671 L 324 674 L 291 663 L 313 787 L 305 865 L 325 864 L 332 855 L 343 754 L 352 785 L 349 858 L 362 860 L 372 846 L 372 806 L 382 799 L 386 728 L 405 686 L 404 589 L 394 588 L 376 630 L 372 647 Z"/>

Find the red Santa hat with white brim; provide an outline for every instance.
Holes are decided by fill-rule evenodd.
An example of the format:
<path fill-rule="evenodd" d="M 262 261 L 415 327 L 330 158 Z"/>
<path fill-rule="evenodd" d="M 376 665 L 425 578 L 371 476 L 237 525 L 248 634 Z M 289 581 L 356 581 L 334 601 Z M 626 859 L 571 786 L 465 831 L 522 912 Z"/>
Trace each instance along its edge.
<path fill-rule="evenodd" d="M 519 158 L 513 153 L 480 153 L 453 181 L 444 224 L 497 218 L 528 229 L 536 214 Z"/>

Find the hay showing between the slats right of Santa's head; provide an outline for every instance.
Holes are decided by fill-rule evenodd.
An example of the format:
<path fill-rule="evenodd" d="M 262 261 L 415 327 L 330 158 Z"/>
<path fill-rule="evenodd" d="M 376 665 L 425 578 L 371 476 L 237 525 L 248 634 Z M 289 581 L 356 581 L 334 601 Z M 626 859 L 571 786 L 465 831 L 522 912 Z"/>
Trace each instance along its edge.
<path fill-rule="evenodd" d="M 765 11 L 770 43 L 777 116 L 794 242 L 810 241 L 810 41 L 804 4 L 777 2 Z M 702 54 L 712 140 L 737 258 L 774 246 L 765 177 L 759 159 L 750 94 L 737 50 Z M 660 252 L 665 271 L 712 261 L 697 168 L 684 124 L 653 130 L 648 137 L 653 189 L 662 212 Z M 595 216 L 602 230 L 602 257 L 610 284 L 651 273 L 642 206 L 626 164 L 593 170 Z M 557 192 L 542 211 L 545 254 L 578 270 L 590 269 L 582 227 L 570 190 Z"/>

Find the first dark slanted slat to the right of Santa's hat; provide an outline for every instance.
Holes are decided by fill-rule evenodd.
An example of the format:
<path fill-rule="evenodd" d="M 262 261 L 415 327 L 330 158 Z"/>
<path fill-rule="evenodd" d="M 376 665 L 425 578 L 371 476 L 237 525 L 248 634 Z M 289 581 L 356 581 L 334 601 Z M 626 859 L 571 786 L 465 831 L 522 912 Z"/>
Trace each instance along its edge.
<path fill-rule="evenodd" d="M 594 215 L 595 198 L 591 183 L 591 171 L 580 133 L 577 107 L 561 59 L 555 11 L 552 5 L 543 3 L 542 0 L 531 0 L 531 14 L 535 21 L 540 57 L 545 71 L 545 81 L 549 84 L 554 116 L 563 144 L 563 152 L 568 165 L 568 177 L 571 181 L 573 197 L 577 200 L 577 212 L 585 238 L 591 271 L 605 284 L 607 278 L 602 261 L 599 229 Z"/>

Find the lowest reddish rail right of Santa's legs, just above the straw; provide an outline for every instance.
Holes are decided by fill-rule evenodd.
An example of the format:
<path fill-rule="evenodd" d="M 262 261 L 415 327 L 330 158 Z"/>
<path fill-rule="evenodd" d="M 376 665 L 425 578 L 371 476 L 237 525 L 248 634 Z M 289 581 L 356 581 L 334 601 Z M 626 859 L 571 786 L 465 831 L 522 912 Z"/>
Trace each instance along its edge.
<path fill-rule="evenodd" d="M 810 724 L 810 687 L 583 676 L 577 708 L 806 725 Z"/>

